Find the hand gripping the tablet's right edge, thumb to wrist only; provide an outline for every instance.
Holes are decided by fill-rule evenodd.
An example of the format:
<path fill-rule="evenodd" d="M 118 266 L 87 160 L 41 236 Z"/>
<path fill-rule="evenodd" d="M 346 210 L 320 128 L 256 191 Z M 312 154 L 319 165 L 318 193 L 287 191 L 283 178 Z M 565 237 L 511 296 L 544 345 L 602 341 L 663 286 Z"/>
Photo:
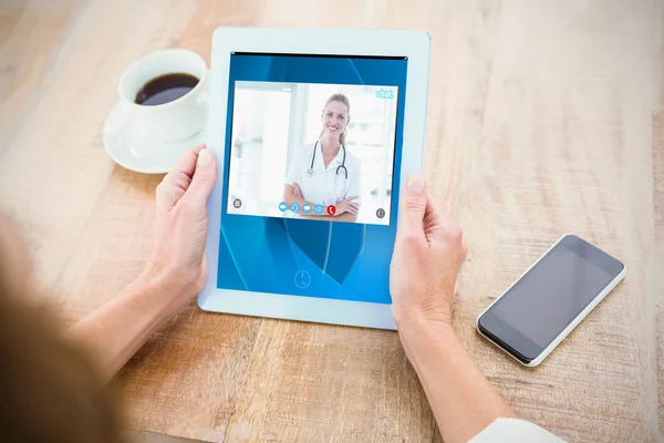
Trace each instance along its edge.
<path fill-rule="evenodd" d="M 400 216 L 390 270 L 394 320 L 400 329 L 411 320 L 449 324 L 466 258 L 461 228 L 427 195 L 421 174 L 408 178 Z"/>

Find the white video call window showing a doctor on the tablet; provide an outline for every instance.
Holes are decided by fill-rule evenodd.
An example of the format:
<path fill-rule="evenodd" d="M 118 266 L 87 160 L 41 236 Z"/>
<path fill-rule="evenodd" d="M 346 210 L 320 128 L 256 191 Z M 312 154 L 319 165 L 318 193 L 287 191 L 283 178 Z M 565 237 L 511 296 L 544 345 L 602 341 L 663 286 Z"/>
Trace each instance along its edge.
<path fill-rule="evenodd" d="M 388 225 L 397 92 L 236 82 L 227 213 Z"/>

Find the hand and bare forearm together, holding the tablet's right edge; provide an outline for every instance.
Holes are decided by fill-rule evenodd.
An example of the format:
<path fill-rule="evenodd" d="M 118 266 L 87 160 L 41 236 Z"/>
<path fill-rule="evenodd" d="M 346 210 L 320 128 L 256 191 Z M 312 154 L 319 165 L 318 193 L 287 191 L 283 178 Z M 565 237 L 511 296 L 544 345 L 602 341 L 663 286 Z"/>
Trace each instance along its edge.
<path fill-rule="evenodd" d="M 392 313 L 440 435 L 467 442 L 498 418 L 513 418 L 452 328 L 454 291 L 466 258 L 461 228 L 408 178 L 390 270 Z"/>

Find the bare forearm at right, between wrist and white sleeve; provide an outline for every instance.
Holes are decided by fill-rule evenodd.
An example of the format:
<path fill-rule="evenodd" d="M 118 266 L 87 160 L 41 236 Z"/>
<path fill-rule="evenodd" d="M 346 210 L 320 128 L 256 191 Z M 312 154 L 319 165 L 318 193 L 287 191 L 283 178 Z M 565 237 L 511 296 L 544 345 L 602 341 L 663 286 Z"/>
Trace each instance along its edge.
<path fill-rule="evenodd" d="M 400 338 L 445 442 L 467 442 L 496 419 L 516 416 L 449 324 L 416 320 L 400 326 Z"/>

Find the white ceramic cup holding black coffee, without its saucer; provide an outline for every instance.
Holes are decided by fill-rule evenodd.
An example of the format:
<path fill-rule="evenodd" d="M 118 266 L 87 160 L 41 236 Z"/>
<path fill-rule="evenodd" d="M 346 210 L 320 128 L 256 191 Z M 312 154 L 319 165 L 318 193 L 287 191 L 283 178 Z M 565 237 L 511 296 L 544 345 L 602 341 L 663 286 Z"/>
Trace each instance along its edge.
<path fill-rule="evenodd" d="M 154 106 L 135 102 L 136 94 L 147 82 L 172 73 L 194 75 L 199 79 L 198 84 L 173 102 Z M 191 137 L 205 126 L 208 113 L 207 78 L 208 68 L 205 60 L 196 52 L 167 49 L 134 62 L 122 74 L 117 90 L 139 135 L 164 142 L 177 142 Z"/>

